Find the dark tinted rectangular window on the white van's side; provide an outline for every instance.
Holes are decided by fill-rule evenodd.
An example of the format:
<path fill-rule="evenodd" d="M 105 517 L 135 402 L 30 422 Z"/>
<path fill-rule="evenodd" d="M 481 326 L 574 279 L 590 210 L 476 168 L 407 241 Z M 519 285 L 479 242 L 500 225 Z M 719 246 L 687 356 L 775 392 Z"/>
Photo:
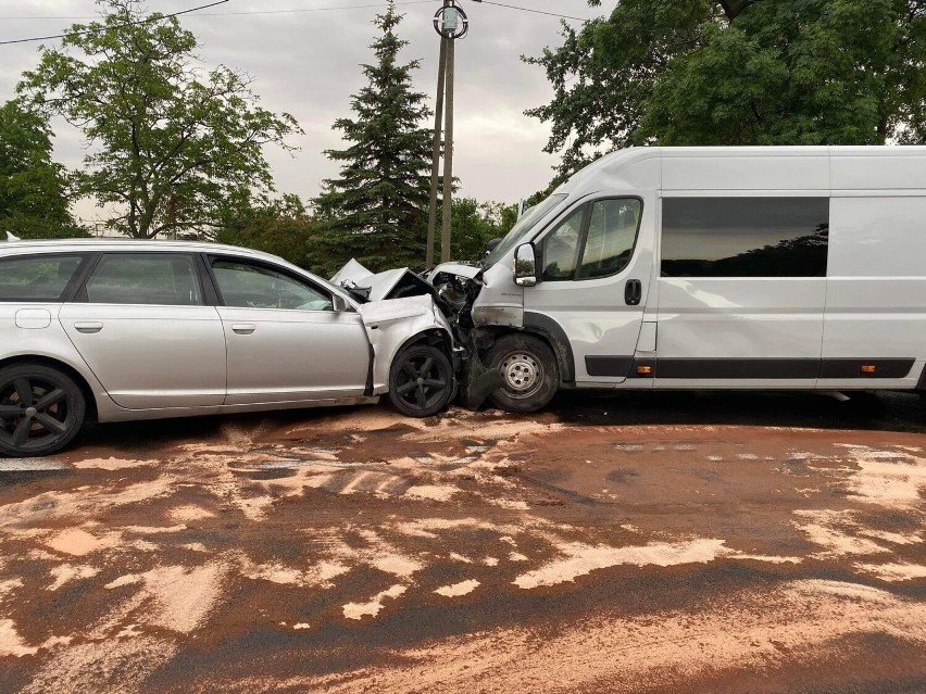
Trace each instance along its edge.
<path fill-rule="evenodd" d="M 828 198 L 664 198 L 663 277 L 826 277 Z"/>

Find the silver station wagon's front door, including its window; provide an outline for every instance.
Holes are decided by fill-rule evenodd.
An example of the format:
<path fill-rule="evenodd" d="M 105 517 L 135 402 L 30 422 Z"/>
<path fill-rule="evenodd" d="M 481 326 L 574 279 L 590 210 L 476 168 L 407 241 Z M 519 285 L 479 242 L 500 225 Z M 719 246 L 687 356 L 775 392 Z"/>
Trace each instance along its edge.
<path fill-rule="evenodd" d="M 212 256 L 227 344 L 228 405 L 359 398 L 372 349 L 355 312 L 321 283 L 264 261 Z"/>

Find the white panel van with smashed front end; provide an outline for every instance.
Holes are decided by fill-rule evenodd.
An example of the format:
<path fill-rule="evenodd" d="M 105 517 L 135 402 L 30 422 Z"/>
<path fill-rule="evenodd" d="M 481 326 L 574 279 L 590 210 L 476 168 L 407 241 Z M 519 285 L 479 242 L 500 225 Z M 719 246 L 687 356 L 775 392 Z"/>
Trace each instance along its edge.
<path fill-rule="evenodd" d="M 926 148 L 639 148 L 443 295 L 510 411 L 560 388 L 926 389 Z"/>

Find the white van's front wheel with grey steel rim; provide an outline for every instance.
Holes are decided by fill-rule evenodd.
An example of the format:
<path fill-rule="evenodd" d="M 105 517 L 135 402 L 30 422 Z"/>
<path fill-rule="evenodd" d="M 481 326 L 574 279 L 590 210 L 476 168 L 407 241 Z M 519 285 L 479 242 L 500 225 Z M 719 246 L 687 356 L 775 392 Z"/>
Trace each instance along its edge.
<path fill-rule="evenodd" d="M 486 355 L 489 369 L 498 369 L 504 383 L 489 395 L 506 412 L 537 412 L 556 394 L 560 370 L 553 350 L 529 335 L 499 338 Z"/>

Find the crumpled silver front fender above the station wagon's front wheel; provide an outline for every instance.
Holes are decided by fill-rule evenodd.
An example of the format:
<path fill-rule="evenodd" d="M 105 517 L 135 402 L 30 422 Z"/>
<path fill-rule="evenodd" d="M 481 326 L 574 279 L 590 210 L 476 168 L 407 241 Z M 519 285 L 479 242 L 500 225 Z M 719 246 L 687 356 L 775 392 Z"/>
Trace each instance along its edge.
<path fill-rule="evenodd" d="M 430 296 L 374 301 L 358 306 L 358 313 L 373 345 L 373 393 L 376 395 L 389 390 L 392 359 L 406 344 L 435 331 L 446 335 L 448 344 L 454 344 L 450 324 Z"/>

